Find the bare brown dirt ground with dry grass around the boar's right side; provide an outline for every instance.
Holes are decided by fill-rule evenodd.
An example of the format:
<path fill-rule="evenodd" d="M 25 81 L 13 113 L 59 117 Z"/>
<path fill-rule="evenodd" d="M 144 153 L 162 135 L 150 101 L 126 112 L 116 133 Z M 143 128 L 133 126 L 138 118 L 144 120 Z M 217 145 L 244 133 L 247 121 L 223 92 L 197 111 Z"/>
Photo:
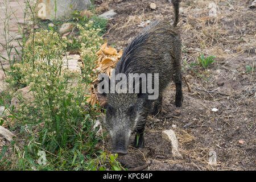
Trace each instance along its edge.
<path fill-rule="evenodd" d="M 117 49 L 124 49 L 143 29 L 142 22 L 163 16 L 173 22 L 172 4 L 167 0 L 154 1 L 155 10 L 147 0 L 95 2 L 99 13 L 109 9 L 117 13 L 109 20 L 104 35 Z M 246 65 L 256 67 L 256 9 L 249 7 L 253 1 L 213 2 L 214 6 L 210 1 L 181 2 L 178 27 L 183 46 L 183 106 L 174 106 L 175 86 L 171 84 L 164 93 L 162 115 L 148 118 L 144 148 L 139 151 L 130 146 L 129 154 L 118 157 L 125 167 L 256 169 L 256 77 L 253 69 L 246 71 Z M 216 8 L 216 16 L 209 16 L 212 7 Z M 199 53 L 214 55 L 215 61 L 207 69 L 193 67 Z M 171 143 L 162 138 L 162 131 L 168 129 L 175 131 L 183 159 L 175 159 Z M 110 139 L 104 146 L 110 150 Z M 217 165 L 209 165 L 210 151 L 216 152 Z"/>

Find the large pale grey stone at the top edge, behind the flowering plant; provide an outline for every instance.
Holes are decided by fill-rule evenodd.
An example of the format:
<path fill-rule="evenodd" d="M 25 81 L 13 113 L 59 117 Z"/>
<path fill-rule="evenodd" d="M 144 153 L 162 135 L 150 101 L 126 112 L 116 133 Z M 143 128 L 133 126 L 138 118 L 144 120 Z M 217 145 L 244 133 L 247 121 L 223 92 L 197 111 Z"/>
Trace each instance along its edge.
<path fill-rule="evenodd" d="M 74 10 L 85 10 L 92 5 L 90 0 L 56 0 L 56 19 L 71 18 Z M 41 19 L 55 19 L 55 0 L 39 0 L 36 4 L 36 12 Z"/>

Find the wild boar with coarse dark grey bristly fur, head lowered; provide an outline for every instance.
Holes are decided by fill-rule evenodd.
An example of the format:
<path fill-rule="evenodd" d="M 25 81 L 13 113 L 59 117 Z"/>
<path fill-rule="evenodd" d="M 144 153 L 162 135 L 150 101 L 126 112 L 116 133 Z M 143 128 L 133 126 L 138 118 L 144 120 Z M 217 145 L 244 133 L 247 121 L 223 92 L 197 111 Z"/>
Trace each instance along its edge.
<path fill-rule="evenodd" d="M 148 100 L 148 93 L 108 93 L 104 96 L 106 119 L 104 125 L 113 142 L 113 152 L 126 154 L 131 132 L 136 131 L 134 146 L 141 148 L 148 114 L 158 113 L 162 106 L 162 92 L 173 80 L 176 85 L 175 105 L 181 106 L 181 40 L 177 30 L 179 0 L 172 0 L 175 9 L 174 24 L 167 20 L 151 23 L 126 47 L 115 73 L 159 73 L 158 100 Z M 127 77 L 128 78 L 128 77 Z M 116 84 L 116 83 L 115 83 Z M 138 139 L 138 140 L 137 140 Z"/>

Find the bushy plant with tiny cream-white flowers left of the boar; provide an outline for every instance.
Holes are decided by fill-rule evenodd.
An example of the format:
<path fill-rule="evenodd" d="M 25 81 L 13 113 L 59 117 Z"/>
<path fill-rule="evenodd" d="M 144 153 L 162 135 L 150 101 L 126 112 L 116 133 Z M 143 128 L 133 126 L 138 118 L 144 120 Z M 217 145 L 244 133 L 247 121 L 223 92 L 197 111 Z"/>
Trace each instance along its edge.
<path fill-rule="evenodd" d="M 95 53 L 100 41 L 97 35 L 100 30 L 90 29 L 91 23 L 85 28 L 78 26 L 84 42 L 82 47 L 82 68 L 90 74 Z M 30 105 L 20 105 L 20 119 L 25 123 L 40 124 L 40 141 L 46 150 L 54 151 L 58 147 L 75 143 L 78 134 L 92 135 L 93 117 L 90 110 L 85 110 L 85 92 L 87 82 L 82 80 L 78 72 L 64 68 L 64 56 L 68 39 L 53 31 L 36 32 L 34 43 L 32 35 L 25 47 L 23 63 L 15 64 L 14 69 L 22 75 L 20 82 L 28 85 L 34 96 Z M 67 60 L 66 60 L 67 62 Z M 29 117 L 28 117 L 29 116 Z M 80 136 L 81 137 L 81 136 Z M 87 140 L 92 147 L 93 140 Z"/>

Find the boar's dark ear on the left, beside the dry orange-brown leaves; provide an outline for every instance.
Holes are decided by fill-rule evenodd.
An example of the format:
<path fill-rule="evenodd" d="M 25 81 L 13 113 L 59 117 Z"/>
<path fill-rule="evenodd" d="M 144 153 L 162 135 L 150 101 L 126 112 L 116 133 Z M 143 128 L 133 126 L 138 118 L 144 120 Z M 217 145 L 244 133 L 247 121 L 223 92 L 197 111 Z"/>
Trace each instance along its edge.
<path fill-rule="evenodd" d="M 110 93 L 110 78 L 105 73 L 101 73 L 98 76 L 98 81 L 97 96 L 106 97 L 106 94 Z"/>

